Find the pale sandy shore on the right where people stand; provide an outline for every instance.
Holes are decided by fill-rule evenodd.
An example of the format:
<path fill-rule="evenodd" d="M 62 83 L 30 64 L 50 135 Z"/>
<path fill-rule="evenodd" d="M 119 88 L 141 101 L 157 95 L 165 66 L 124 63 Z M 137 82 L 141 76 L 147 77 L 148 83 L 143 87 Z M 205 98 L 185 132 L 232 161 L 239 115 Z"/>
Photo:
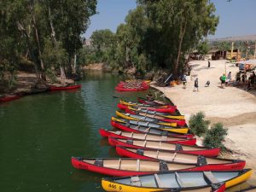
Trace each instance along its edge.
<path fill-rule="evenodd" d="M 189 119 L 190 114 L 203 111 L 212 123 L 222 122 L 229 129 L 225 146 L 234 153 L 233 158 L 247 160 L 247 167 L 256 170 L 256 96 L 255 90 L 246 91 L 247 86 L 221 88 L 219 77 L 232 73 L 235 79 L 238 67 L 226 61 L 191 61 L 192 77 L 188 77 L 187 88 L 155 87 L 174 102 L 181 113 Z M 193 92 L 194 80 L 199 79 L 199 92 Z M 210 80 L 209 87 L 205 87 Z M 154 86 L 154 85 L 153 85 Z"/>

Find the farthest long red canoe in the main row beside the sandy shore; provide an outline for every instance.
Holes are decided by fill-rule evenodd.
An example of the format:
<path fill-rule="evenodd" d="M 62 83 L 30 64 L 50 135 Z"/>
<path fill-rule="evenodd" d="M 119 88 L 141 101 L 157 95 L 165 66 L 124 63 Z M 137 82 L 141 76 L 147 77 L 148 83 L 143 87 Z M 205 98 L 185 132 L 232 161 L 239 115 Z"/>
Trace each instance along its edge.
<path fill-rule="evenodd" d="M 118 108 L 120 109 L 129 109 L 129 105 L 125 105 L 122 103 L 119 103 L 117 105 Z M 145 109 L 148 111 L 155 111 L 155 112 L 160 112 L 160 113 L 175 113 L 177 111 L 177 107 L 176 106 L 163 106 L 163 107 L 144 107 L 144 106 L 130 106 L 132 108 L 137 108 L 137 110 L 141 110 L 141 109 Z"/>

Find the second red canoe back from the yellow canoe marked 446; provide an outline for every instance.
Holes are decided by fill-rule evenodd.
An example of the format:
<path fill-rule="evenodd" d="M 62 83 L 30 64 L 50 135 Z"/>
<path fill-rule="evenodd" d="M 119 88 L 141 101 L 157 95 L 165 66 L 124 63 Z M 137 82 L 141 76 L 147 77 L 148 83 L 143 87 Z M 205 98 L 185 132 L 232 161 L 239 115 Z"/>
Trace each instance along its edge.
<path fill-rule="evenodd" d="M 116 152 L 123 157 L 141 160 L 165 160 L 167 162 L 185 163 L 191 166 L 207 166 L 207 169 L 212 171 L 242 170 L 246 165 L 245 160 L 211 158 L 197 154 L 185 154 L 183 151 L 172 152 L 159 149 L 137 149 L 116 146 Z"/>

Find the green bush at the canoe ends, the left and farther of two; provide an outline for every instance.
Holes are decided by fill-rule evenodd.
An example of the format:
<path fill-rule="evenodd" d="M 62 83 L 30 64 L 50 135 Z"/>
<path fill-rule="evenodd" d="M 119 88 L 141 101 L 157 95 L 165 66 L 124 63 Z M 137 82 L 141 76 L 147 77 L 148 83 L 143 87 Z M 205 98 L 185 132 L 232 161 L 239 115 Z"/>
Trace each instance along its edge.
<path fill-rule="evenodd" d="M 189 119 L 190 131 L 199 137 L 207 132 L 209 124 L 210 121 L 205 120 L 205 114 L 203 112 L 192 114 Z"/>

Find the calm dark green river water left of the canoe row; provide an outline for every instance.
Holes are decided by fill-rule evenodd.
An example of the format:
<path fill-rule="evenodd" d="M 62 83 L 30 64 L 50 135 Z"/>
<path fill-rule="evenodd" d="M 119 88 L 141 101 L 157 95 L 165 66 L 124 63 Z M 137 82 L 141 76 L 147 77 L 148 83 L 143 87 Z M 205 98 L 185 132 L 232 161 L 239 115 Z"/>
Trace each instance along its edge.
<path fill-rule="evenodd" d="M 26 96 L 0 105 L 0 191 L 103 191 L 102 175 L 76 170 L 71 156 L 117 157 L 98 129 L 111 128 L 122 78 L 86 73 L 81 90 Z M 247 183 L 245 184 L 247 186 Z"/>

